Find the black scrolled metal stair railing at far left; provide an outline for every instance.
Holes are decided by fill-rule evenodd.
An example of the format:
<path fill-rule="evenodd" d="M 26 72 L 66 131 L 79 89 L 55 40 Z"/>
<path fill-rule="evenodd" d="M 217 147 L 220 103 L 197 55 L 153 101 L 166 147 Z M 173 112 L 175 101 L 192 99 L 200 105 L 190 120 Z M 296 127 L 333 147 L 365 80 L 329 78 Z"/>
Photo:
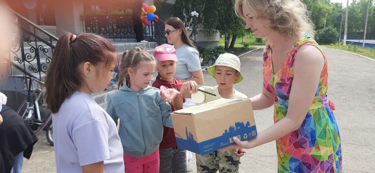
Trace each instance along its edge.
<path fill-rule="evenodd" d="M 58 38 L 13 10 L 9 11 L 14 20 L 14 42 L 7 58 L 11 75 L 27 75 L 42 81 L 42 74 L 47 73 Z M 48 40 L 41 36 L 48 37 Z"/>

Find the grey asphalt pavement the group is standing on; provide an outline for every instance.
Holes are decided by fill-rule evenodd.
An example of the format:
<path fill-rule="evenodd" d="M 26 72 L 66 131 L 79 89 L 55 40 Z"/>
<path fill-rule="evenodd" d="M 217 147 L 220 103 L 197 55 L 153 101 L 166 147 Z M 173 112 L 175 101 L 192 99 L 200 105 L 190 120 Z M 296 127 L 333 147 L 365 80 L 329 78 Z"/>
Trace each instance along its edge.
<path fill-rule="evenodd" d="M 323 48 L 328 57 L 328 95 L 336 106 L 334 111 L 342 139 L 344 172 L 370 173 L 375 163 L 375 61 Z M 240 57 L 243 82 L 234 87 L 252 97 L 262 91 L 262 49 Z M 204 85 L 216 82 L 204 74 Z M 273 124 L 273 108 L 254 112 L 258 131 Z M 24 161 L 23 173 L 56 172 L 53 147 L 39 136 L 30 160 Z M 277 172 L 275 142 L 246 150 L 241 159 L 240 173 Z M 194 164 L 195 166 L 195 164 Z M 196 169 L 193 172 L 196 173 Z"/>

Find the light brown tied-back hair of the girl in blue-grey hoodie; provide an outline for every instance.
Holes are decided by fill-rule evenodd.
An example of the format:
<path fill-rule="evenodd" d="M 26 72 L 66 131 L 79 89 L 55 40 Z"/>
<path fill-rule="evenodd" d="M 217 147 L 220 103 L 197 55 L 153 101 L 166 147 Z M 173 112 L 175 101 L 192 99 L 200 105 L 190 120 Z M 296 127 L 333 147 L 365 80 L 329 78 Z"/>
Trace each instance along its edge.
<path fill-rule="evenodd" d="M 126 83 L 127 87 L 130 87 L 130 76 L 127 71 L 129 67 L 136 70 L 142 61 L 156 62 L 156 58 L 147 52 L 142 47 L 131 48 L 122 54 L 120 63 L 120 75 L 118 75 L 118 89 Z"/>

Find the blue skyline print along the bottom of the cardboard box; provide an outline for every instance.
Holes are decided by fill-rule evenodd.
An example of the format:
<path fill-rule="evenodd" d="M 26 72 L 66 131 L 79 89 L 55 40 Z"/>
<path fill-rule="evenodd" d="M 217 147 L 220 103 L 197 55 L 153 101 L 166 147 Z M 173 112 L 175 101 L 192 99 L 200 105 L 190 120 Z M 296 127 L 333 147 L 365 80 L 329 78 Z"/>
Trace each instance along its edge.
<path fill-rule="evenodd" d="M 246 125 L 243 122 L 236 122 L 235 126 L 230 126 L 228 129 L 225 129 L 222 136 L 214 137 L 199 143 L 196 142 L 193 134 L 188 131 L 187 127 L 185 127 L 185 130 L 186 140 L 182 139 L 179 134 L 175 133 L 177 146 L 201 155 L 233 145 L 234 136 L 244 141 L 252 139 L 258 135 L 256 126 L 251 126 L 249 121 Z"/>

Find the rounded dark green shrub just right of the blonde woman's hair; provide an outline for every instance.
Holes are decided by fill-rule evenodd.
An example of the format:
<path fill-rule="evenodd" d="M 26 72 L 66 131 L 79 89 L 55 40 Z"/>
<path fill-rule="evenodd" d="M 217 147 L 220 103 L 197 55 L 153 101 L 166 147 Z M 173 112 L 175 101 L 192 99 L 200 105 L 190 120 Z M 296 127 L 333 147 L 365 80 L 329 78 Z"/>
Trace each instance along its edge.
<path fill-rule="evenodd" d="M 329 26 L 320 30 L 317 30 L 317 43 L 318 44 L 330 44 L 335 43 L 339 37 L 339 33 L 336 28 Z"/>

